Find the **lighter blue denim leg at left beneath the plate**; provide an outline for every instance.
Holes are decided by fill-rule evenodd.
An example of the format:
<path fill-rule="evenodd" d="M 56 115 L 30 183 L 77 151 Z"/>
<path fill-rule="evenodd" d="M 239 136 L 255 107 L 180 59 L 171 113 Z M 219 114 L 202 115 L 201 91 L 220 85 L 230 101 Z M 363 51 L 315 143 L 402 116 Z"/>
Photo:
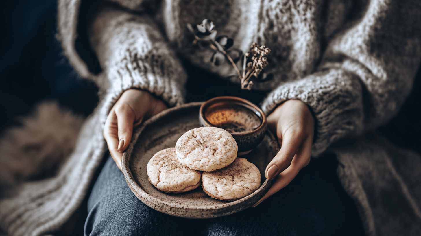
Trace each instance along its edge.
<path fill-rule="evenodd" d="M 185 235 L 187 219 L 157 212 L 128 188 L 123 173 L 108 158 L 88 198 L 87 235 Z"/>

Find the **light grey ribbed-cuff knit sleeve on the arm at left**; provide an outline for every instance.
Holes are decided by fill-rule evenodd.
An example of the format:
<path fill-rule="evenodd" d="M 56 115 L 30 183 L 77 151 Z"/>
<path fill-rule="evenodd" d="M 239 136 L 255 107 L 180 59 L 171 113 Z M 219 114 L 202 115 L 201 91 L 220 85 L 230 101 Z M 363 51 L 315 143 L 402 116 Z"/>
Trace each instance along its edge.
<path fill-rule="evenodd" d="M 170 106 L 183 102 L 186 74 L 147 14 L 105 5 L 88 32 L 91 46 L 115 91 L 141 88 Z"/>

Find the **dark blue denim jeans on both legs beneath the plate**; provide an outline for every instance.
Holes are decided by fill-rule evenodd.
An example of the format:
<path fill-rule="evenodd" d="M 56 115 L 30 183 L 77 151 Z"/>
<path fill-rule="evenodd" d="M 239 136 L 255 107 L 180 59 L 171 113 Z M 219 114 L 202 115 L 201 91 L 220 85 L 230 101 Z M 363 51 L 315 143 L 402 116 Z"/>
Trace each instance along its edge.
<path fill-rule="evenodd" d="M 128 188 L 111 157 L 88 200 L 88 235 L 362 235 L 352 200 L 335 175 L 335 158 L 310 161 L 285 188 L 257 207 L 216 219 L 165 215 Z"/>

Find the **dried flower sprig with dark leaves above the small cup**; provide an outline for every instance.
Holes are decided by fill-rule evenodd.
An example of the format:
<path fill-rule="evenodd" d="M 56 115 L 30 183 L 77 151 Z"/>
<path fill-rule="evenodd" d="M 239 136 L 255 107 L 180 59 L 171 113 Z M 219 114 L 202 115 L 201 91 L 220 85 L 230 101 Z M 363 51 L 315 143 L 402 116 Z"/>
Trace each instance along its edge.
<path fill-rule="evenodd" d="M 242 72 L 240 72 L 236 62 L 238 62 L 242 56 L 242 51 L 235 48 L 228 50 L 234 44 L 234 40 L 224 35 L 216 38 L 218 31 L 214 29 L 215 25 L 213 24 L 213 21 L 210 21 L 209 19 L 204 19 L 202 24 L 196 25 L 196 28 L 197 30 L 195 30 L 191 24 L 187 24 L 187 29 L 192 32 L 195 37 L 193 44 L 204 44 L 212 48 L 215 52 L 212 55 L 211 62 L 216 66 L 223 64 L 225 58 L 228 59 L 240 78 L 241 89 L 250 90 L 253 86 L 253 81 L 251 81 L 250 78 L 252 76 L 257 78 L 264 67 L 267 66 L 268 62 L 265 56 L 270 53 L 270 49 L 253 43 L 250 47 L 250 51 L 244 54 Z M 234 59 L 232 59 L 233 57 Z"/>

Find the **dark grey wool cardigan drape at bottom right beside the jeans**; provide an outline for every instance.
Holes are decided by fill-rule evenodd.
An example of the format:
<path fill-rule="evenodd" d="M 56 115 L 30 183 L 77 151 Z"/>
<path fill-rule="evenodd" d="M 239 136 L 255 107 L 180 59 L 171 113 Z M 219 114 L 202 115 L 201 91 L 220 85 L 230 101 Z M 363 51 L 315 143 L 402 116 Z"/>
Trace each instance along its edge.
<path fill-rule="evenodd" d="M 333 145 L 338 177 L 357 203 L 366 235 L 420 235 L 421 158 L 378 134 Z"/>

